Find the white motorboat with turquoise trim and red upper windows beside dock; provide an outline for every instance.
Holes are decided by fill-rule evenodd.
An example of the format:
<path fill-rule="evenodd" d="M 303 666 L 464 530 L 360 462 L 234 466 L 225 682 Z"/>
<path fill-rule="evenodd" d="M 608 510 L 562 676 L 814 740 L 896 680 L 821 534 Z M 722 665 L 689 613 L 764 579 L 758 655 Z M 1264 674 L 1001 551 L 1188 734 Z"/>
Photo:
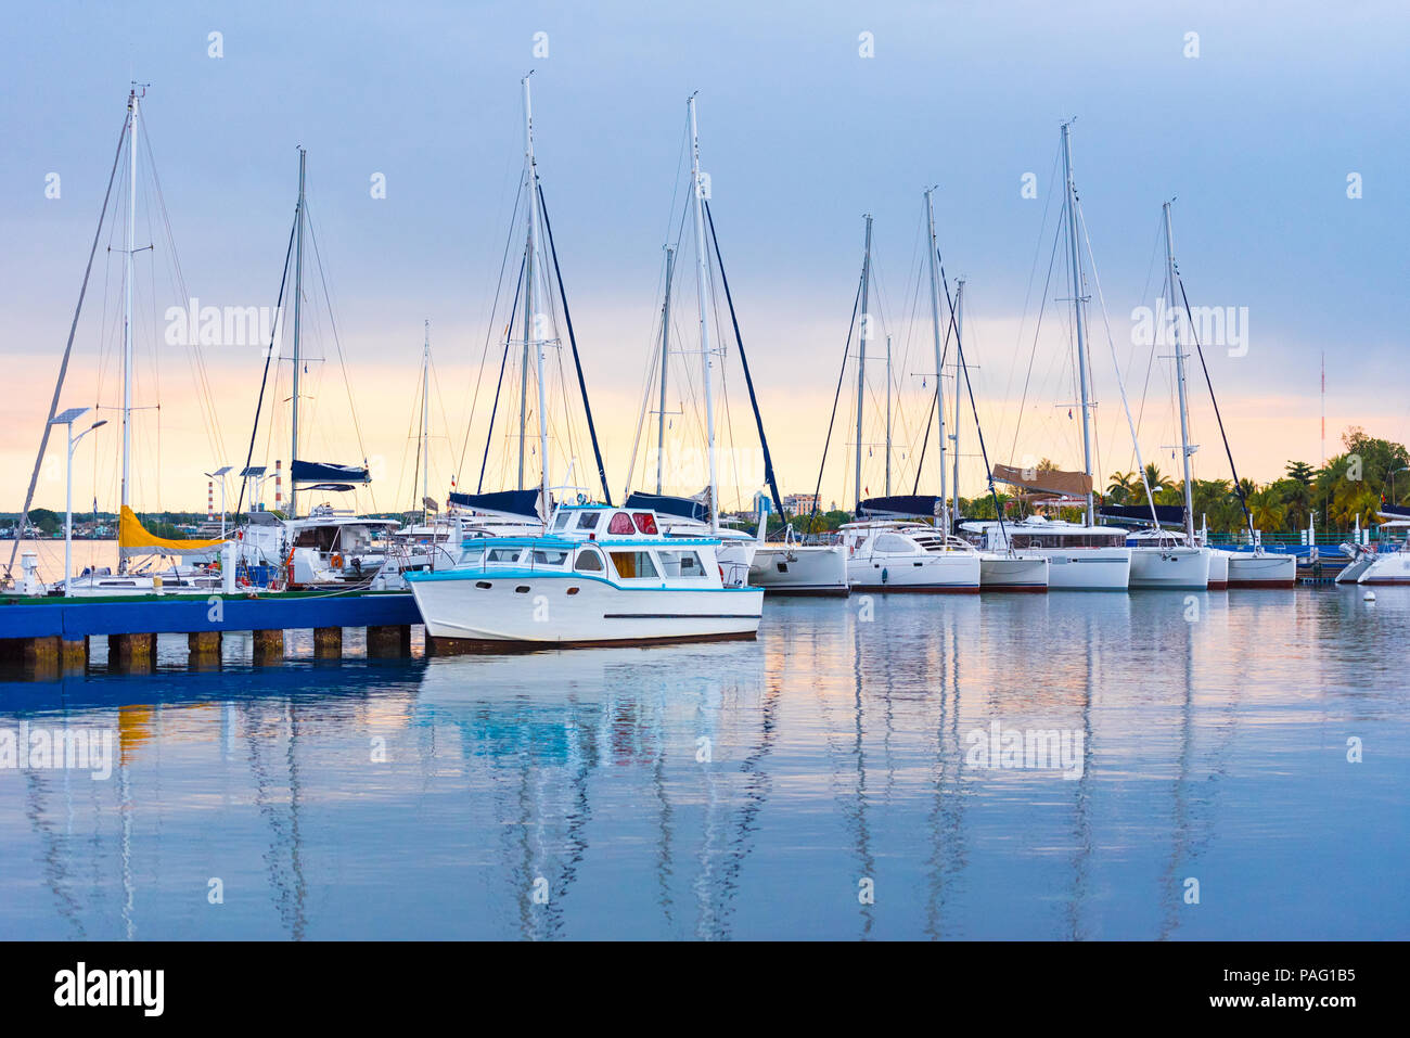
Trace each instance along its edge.
<path fill-rule="evenodd" d="M 753 637 L 764 592 L 728 584 L 719 547 L 650 511 L 564 505 L 539 536 L 468 539 L 453 568 L 405 580 L 429 636 L 475 647 Z"/>

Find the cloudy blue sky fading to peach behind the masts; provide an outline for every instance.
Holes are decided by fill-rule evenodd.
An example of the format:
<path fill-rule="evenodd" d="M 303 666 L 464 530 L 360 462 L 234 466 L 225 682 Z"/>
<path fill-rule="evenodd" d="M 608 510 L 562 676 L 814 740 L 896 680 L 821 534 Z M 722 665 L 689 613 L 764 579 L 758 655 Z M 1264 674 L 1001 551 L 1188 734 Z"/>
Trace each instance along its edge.
<path fill-rule="evenodd" d="M 874 217 L 869 309 L 893 336 L 895 489 L 936 489 L 933 432 L 918 482 L 915 472 L 935 371 L 921 267 L 922 190 L 931 185 L 950 289 L 966 281 L 963 341 L 988 461 L 1049 457 L 1080 467 L 1060 252 L 1048 281 L 1059 126 L 1073 117 L 1074 178 L 1100 279 L 1100 296 L 1089 281 L 1100 475 L 1135 467 L 1118 371 L 1142 458 L 1177 468 L 1170 351 L 1132 341 L 1134 309 L 1153 305 L 1160 288 L 1160 206 L 1172 197 L 1191 303 L 1246 315 L 1246 350 L 1206 350 L 1239 475 L 1263 482 L 1290 458 L 1321 460 L 1323 355 L 1327 454 L 1340 451 L 1348 426 L 1406 441 L 1407 45 L 1410 11 L 1373 1 L 1335 10 L 1256 1 L 1160 10 L 30 4 L 7 16 L 0 39 L 8 85 L 0 113 L 0 511 L 24 499 L 134 79 L 149 85 L 142 118 L 165 202 L 165 216 L 151 206 L 144 144 L 134 260 L 140 511 L 202 508 L 203 472 L 244 464 L 259 348 L 169 346 L 164 315 L 192 296 L 274 306 L 299 145 L 307 148 L 319 251 L 319 262 L 310 257 L 305 267 L 305 357 L 313 360 L 309 396 L 300 392 L 309 401 L 302 453 L 368 460 L 376 481 L 369 498 L 358 495 L 362 508 L 419 499 L 410 471 L 429 320 L 430 492 L 441 499 L 455 474 L 461 488 L 475 481 L 503 348 L 506 299 L 492 310 L 501 262 L 506 243 L 522 250 L 522 221 L 510 213 L 529 71 L 539 175 L 613 494 L 627 481 L 653 364 L 692 92 L 711 209 L 785 494 L 819 481 L 866 213 Z M 125 206 L 121 178 L 118 188 Z M 121 252 L 110 251 L 123 248 L 116 216 L 103 230 L 61 399 L 106 408 L 97 413 L 109 425 L 75 460 L 75 498 L 85 506 L 97 498 L 106 509 L 117 503 L 120 443 L 111 410 L 123 267 Z M 685 439 L 699 416 L 698 396 L 687 395 L 699 351 L 692 237 L 680 245 L 680 374 L 667 410 L 673 436 Z M 506 281 L 502 291 L 512 295 L 513 269 Z M 867 344 L 862 443 L 871 494 L 884 488 L 884 334 Z M 719 423 L 739 451 L 757 453 L 736 353 L 726 341 Z M 854 354 L 853 341 L 853 365 Z M 854 495 L 856 368 L 849 371 L 822 465 L 825 502 Z M 255 464 L 288 464 L 290 372 L 282 361 L 266 392 Z M 516 384 L 506 386 L 512 412 Z M 1194 372 L 1190 396 L 1196 477 L 1227 477 L 1208 392 Z M 515 478 L 505 413 L 491 437 L 485 489 Z M 967 496 L 984 471 L 967 413 L 960 437 Z M 565 432 L 550 457 L 556 480 L 582 482 L 594 467 L 581 436 L 570 441 Z M 722 496 L 747 501 L 759 488 L 756 468 L 732 468 L 737 485 Z M 677 471 L 682 481 L 698 475 L 688 465 Z M 58 440 L 35 503 L 63 505 Z"/>

